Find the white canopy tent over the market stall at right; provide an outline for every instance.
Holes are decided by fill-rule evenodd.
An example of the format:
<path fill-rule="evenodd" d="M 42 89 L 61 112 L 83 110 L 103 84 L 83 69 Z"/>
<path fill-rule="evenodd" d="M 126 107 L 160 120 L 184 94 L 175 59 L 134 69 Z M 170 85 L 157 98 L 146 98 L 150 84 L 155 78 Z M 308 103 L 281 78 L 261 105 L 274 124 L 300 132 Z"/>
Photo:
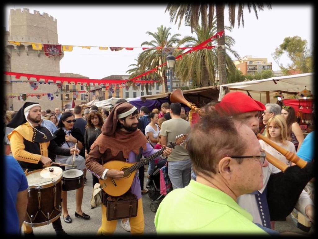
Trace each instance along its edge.
<path fill-rule="evenodd" d="M 220 85 L 220 93 L 218 100 L 221 101 L 225 92 L 230 91 L 247 91 L 252 98 L 261 101 L 262 103 L 276 103 L 277 99 L 273 96 L 277 91 L 282 91 L 285 94 L 297 94 L 306 89 L 314 91 L 314 74 L 305 73 L 291 76 L 278 76 L 268 79 L 243 81 Z M 272 91 L 272 92 L 270 92 Z M 259 98 L 258 98 L 259 97 Z"/>

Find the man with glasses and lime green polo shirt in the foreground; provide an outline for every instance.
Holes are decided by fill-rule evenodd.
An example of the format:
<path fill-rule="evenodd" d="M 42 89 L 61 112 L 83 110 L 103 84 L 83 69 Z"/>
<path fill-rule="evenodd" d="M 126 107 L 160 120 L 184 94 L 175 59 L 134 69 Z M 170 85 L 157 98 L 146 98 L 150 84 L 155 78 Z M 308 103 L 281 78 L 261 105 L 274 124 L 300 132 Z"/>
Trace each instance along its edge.
<path fill-rule="evenodd" d="M 253 131 L 214 112 L 191 129 L 186 148 L 197 180 L 162 200 L 156 231 L 266 235 L 236 202 L 240 195 L 263 187 L 262 167 L 268 162 Z"/>

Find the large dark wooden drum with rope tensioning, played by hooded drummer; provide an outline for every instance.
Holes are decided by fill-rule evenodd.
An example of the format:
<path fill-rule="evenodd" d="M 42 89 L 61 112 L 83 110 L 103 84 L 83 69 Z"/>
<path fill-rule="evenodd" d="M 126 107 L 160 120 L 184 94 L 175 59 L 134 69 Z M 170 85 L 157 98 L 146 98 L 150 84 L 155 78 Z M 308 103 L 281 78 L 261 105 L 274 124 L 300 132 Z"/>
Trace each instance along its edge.
<path fill-rule="evenodd" d="M 52 179 L 40 176 L 42 169 L 25 176 L 28 180 L 28 206 L 24 223 L 30 227 L 49 224 L 60 217 L 62 201 L 62 177 Z"/>

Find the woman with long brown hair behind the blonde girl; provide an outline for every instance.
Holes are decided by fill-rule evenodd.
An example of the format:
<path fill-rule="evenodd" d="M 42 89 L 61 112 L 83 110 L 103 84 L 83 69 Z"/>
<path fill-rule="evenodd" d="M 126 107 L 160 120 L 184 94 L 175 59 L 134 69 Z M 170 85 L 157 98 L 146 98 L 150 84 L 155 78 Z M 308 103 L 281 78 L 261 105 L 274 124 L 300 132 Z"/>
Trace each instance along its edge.
<path fill-rule="evenodd" d="M 302 134 L 301 127 L 296 122 L 295 110 L 289 105 L 283 105 L 281 108 L 280 114 L 285 118 L 287 123 L 288 140 L 292 141 L 297 151 L 297 149 L 300 148 L 302 141 L 304 141 L 304 135 Z"/>

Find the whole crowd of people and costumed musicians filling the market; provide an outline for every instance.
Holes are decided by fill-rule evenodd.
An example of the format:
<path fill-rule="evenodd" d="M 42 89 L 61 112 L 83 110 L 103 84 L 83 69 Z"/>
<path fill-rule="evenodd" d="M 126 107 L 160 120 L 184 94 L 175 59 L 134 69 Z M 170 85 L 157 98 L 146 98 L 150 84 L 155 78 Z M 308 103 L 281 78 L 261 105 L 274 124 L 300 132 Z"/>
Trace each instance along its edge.
<path fill-rule="evenodd" d="M 14 173 L 15 181 L 5 184 L 5 215 L 9 218 L 5 232 L 21 234 L 22 227 L 24 236 L 34 235 L 32 227 L 23 223 L 28 203 L 24 174 L 53 163 L 65 171 L 62 165 L 73 154 L 85 159 L 84 183 L 76 189 L 74 216 L 90 219 L 82 211 L 87 171 L 92 174 L 93 187 L 100 183 L 103 189 L 98 235 L 114 233 L 117 220 L 108 220 L 112 212 L 107 210 L 111 202 L 119 200 L 122 208 L 127 201 L 136 202 L 128 212 L 122 209 L 124 216 L 116 218 L 121 219 L 121 227 L 132 234 L 144 232 L 144 165 L 148 165 L 149 178 L 159 162 L 168 165 L 172 191 L 156 212 L 158 234 L 279 235 L 274 222 L 284 220 L 295 209 L 315 222 L 314 132 L 304 139 L 293 107 L 263 105 L 244 93 L 230 92 L 221 102 L 205 105 L 201 112 L 200 120 L 190 125 L 189 112 L 180 103 L 163 103 L 160 109 L 150 111 L 146 106 L 138 110 L 121 99 L 110 111 L 77 105 L 61 112 L 59 108 L 44 111 L 38 103 L 26 102 L 18 112 L 6 111 L 5 169 L 13 170 L 5 171 Z M 266 141 L 258 140 L 255 133 L 297 154 L 306 166 L 291 163 Z M 187 135 L 186 144 L 170 146 L 180 135 Z M 282 172 L 266 160 L 266 154 L 288 168 Z M 111 162 L 136 163 L 137 173 L 132 173 L 128 182 L 127 171 L 105 166 Z M 7 173 L 5 178 L 9 177 Z M 104 180 L 115 186 L 129 184 L 128 191 L 119 199 L 104 190 Z M 61 217 L 72 223 L 67 191 L 62 191 L 61 198 Z M 57 235 L 67 235 L 60 217 L 52 226 Z"/>

